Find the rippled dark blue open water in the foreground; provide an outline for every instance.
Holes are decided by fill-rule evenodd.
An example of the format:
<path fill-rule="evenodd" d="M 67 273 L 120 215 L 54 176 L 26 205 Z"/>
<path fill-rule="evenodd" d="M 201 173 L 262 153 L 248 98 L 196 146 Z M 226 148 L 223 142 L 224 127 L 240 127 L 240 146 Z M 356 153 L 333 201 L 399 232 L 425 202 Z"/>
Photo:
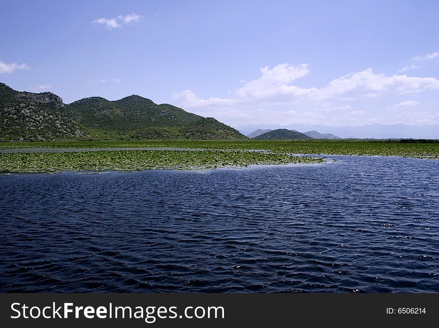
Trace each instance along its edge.
<path fill-rule="evenodd" d="M 439 162 L 0 177 L 1 292 L 439 292 Z"/>

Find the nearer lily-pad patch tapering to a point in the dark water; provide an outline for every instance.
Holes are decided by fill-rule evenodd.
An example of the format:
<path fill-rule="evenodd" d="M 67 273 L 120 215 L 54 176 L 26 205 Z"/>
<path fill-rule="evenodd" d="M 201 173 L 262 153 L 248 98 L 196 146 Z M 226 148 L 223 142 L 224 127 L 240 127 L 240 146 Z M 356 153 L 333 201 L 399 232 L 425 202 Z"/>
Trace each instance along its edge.
<path fill-rule="evenodd" d="M 1 172 L 140 171 L 216 169 L 254 164 L 321 163 L 322 158 L 251 151 L 120 150 L 0 153 Z"/>

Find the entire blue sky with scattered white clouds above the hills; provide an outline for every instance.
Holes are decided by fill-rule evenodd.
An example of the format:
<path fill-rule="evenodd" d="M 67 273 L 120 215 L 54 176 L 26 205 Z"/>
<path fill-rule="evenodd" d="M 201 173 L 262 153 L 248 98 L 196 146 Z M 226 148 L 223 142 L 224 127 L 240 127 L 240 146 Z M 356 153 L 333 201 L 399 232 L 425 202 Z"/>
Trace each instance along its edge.
<path fill-rule="evenodd" d="M 0 81 L 247 124 L 439 124 L 439 1 L 0 0 Z"/>

